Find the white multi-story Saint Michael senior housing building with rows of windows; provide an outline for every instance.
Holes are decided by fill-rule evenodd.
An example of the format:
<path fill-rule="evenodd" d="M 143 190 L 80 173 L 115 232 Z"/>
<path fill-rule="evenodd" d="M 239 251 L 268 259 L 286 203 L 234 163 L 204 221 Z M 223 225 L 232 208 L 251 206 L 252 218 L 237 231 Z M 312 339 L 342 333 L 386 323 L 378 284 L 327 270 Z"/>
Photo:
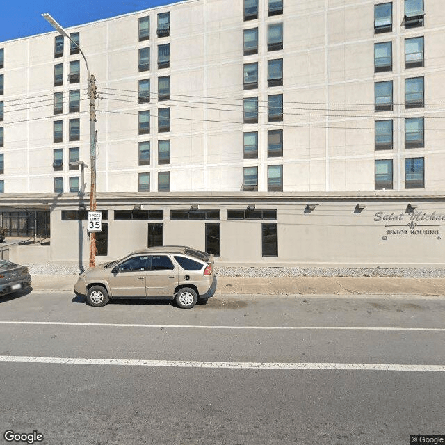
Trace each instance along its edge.
<path fill-rule="evenodd" d="M 439 0 L 188 0 L 67 29 L 97 79 L 106 256 L 444 263 L 437 228 L 393 236 L 377 215 L 445 214 L 444 31 Z M 2 224 L 51 213 L 51 259 L 84 229 L 87 78 L 56 32 L 0 43 Z"/>

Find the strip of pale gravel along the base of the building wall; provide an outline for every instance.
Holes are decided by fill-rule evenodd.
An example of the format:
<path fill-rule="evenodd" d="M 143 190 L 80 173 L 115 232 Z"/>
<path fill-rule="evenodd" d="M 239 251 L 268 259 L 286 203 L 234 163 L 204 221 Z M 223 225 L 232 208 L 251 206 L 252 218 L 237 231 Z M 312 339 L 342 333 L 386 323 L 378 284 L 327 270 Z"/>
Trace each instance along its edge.
<path fill-rule="evenodd" d="M 27 264 L 31 275 L 79 275 L 77 264 Z M 322 268 L 217 266 L 220 277 L 401 277 L 444 278 L 445 268 Z"/>

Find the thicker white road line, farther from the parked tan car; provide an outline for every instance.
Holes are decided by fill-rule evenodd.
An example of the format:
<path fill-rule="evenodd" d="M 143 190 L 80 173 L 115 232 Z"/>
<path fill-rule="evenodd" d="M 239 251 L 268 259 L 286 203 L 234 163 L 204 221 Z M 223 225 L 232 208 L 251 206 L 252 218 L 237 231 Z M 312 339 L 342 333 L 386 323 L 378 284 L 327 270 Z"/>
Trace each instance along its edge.
<path fill-rule="evenodd" d="M 318 369 L 332 371 L 435 371 L 445 372 L 445 365 L 380 363 L 261 363 L 261 362 L 188 362 L 179 360 L 85 359 L 63 357 L 27 357 L 0 355 L 0 362 L 43 364 L 90 364 L 115 366 L 167 366 L 170 368 L 213 369 Z"/>

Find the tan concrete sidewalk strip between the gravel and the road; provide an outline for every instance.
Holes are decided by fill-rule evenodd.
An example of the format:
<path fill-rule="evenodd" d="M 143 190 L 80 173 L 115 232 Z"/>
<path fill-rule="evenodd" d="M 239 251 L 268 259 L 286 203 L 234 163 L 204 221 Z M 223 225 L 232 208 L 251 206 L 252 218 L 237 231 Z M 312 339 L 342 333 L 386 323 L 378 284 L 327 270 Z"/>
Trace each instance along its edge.
<path fill-rule="evenodd" d="M 78 275 L 33 275 L 35 291 L 72 291 Z M 445 278 L 218 277 L 216 295 L 445 296 Z"/>

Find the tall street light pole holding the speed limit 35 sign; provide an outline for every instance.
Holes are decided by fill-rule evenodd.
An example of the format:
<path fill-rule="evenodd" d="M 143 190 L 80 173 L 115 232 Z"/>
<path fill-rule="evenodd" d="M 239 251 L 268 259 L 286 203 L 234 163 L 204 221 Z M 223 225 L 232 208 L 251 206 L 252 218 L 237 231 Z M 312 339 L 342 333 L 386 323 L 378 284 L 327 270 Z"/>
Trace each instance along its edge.
<path fill-rule="evenodd" d="M 90 191 L 90 211 L 96 211 L 96 77 L 94 74 L 90 73 L 90 68 L 88 67 L 88 62 L 86 60 L 85 54 L 79 45 L 70 38 L 65 29 L 54 20 L 48 13 L 42 14 L 42 17 L 58 31 L 63 37 L 66 37 L 79 48 L 82 54 L 83 60 L 85 60 L 86 70 L 88 71 L 88 96 L 90 97 L 90 157 L 91 157 L 91 191 Z M 96 261 L 96 232 L 90 232 L 90 267 L 95 266 Z"/>

